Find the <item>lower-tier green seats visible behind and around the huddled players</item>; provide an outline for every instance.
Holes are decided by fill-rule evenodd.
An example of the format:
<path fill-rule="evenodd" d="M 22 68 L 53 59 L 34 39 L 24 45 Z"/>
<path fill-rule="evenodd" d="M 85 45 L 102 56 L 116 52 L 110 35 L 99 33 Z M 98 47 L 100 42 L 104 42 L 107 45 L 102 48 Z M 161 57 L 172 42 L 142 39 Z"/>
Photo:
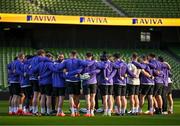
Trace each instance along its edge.
<path fill-rule="evenodd" d="M 98 60 L 99 55 L 102 53 L 102 51 L 106 49 L 76 49 L 79 52 L 79 58 L 84 59 L 85 53 L 89 50 L 94 53 L 95 58 Z M 126 62 L 130 61 L 131 54 L 136 51 L 139 54 L 148 54 L 150 52 L 154 52 L 158 55 L 161 55 L 165 58 L 165 60 L 172 66 L 172 72 L 173 72 L 173 89 L 180 89 L 180 64 L 174 60 L 171 56 L 167 55 L 165 52 L 161 50 L 151 50 L 151 49 L 138 49 L 138 50 L 118 50 L 118 49 L 107 49 L 109 54 L 113 54 L 115 52 L 119 52 L 122 56 L 122 59 Z M 65 58 L 68 58 L 68 54 L 71 51 L 71 49 L 56 49 L 56 48 L 47 48 L 46 51 L 49 51 L 53 53 L 55 56 L 59 52 L 65 53 Z M 7 69 L 6 66 L 9 62 L 11 62 L 15 56 L 19 52 L 24 52 L 25 54 L 34 54 L 35 49 L 32 48 L 10 48 L 10 47 L 1 47 L 0 48 L 0 86 L 1 88 L 7 87 Z"/>

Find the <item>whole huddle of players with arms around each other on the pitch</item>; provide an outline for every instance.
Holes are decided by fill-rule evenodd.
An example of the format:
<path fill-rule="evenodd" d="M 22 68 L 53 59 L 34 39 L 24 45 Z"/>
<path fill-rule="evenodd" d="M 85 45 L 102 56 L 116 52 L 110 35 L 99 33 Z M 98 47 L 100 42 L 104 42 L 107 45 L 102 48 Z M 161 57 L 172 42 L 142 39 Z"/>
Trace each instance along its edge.
<path fill-rule="evenodd" d="M 133 53 L 129 63 L 118 53 L 110 56 L 103 52 L 100 61 L 95 60 L 91 52 L 85 57 L 85 60 L 78 59 L 75 50 L 68 59 L 60 53 L 55 61 L 51 53 L 42 49 L 35 56 L 19 53 L 7 66 L 9 114 L 52 115 L 55 112 L 56 116 L 65 116 L 63 103 L 67 94 L 71 116 L 80 116 L 80 95 L 83 94 L 84 116 L 95 116 L 99 91 L 104 116 L 144 114 L 145 98 L 148 99 L 146 114 L 173 113 L 171 66 L 163 57 Z"/>

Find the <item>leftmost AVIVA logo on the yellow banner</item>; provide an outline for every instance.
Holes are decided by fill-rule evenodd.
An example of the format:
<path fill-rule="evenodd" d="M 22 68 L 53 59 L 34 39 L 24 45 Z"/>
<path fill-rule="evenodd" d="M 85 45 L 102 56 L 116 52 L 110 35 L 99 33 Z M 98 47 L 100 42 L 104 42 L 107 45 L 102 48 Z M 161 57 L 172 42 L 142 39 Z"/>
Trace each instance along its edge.
<path fill-rule="evenodd" d="M 56 22 L 55 16 L 27 15 L 27 21 Z"/>

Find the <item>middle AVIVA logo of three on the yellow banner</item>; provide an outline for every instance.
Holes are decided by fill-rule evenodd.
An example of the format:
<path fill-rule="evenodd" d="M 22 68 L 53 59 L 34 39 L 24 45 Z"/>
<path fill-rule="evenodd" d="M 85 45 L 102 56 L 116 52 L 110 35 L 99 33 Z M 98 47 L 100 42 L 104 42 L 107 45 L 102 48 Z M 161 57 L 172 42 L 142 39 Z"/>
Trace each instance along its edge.
<path fill-rule="evenodd" d="M 80 23 L 107 24 L 108 20 L 105 17 L 80 17 Z"/>

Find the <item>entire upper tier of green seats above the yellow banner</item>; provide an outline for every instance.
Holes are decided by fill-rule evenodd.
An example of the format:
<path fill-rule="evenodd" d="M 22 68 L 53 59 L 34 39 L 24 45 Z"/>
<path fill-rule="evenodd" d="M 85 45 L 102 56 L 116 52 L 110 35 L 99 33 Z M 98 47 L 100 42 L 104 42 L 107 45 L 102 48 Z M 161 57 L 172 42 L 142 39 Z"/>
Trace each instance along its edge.
<path fill-rule="evenodd" d="M 127 17 L 180 17 L 179 0 L 108 0 Z M 0 13 L 119 17 L 102 0 L 1 0 Z"/>

